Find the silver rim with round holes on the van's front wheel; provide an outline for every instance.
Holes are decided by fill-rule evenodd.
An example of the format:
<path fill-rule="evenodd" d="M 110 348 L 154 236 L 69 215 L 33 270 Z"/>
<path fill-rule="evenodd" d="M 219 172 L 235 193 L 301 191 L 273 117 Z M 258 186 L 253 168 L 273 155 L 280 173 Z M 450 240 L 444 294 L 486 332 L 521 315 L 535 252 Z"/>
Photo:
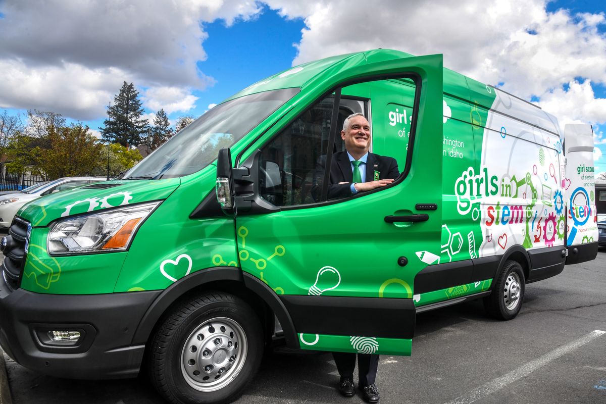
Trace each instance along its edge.
<path fill-rule="evenodd" d="M 217 391 L 231 383 L 246 361 L 248 343 L 244 329 L 232 319 L 206 320 L 185 339 L 181 373 L 198 391 Z"/>

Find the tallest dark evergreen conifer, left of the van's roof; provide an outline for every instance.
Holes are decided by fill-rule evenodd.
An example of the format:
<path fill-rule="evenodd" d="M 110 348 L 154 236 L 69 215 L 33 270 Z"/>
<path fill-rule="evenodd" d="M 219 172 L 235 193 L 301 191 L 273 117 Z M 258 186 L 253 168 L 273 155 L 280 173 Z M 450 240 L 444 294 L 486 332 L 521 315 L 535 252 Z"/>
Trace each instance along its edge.
<path fill-rule="evenodd" d="M 147 119 L 141 119 L 143 113 L 139 91 L 135 90 L 133 83 L 124 82 L 114 97 L 114 104 L 107 107 L 105 127 L 99 127 L 102 138 L 126 148 L 141 144 L 149 127 Z"/>

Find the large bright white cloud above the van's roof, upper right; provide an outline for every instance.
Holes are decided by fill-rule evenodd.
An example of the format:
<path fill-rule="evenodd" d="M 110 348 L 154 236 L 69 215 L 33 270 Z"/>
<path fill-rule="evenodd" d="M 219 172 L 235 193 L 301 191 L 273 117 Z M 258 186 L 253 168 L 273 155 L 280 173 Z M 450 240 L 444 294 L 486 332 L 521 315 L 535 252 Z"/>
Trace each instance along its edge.
<path fill-rule="evenodd" d="M 545 0 L 267 2 L 285 16 L 305 19 L 293 65 L 379 47 L 444 53 L 445 66 L 502 83 L 525 99 L 542 97 L 545 110 L 564 120 L 606 122 L 605 100 L 590 87 L 606 83 L 606 35 L 598 30 L 604 13 L 548 13 Z M 586 80 L 574 82 L 578 77 Z M 569 83 L 570 90 L 562 90 Z"/>

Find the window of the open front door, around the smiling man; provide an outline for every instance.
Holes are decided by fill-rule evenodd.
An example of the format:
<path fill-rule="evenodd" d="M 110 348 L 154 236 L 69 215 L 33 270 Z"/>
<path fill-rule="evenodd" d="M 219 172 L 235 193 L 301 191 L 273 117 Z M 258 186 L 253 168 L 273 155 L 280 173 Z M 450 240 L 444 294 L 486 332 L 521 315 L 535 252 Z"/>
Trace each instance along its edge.
<path fill-rule="evenodd" d="M 259 159 L 261 197 L 273 205 L 291 207 L 353 196 L 349 188 L 335 193 L 333 185 L 336 184 L 332 184 L 334 176 L 331 174 L 330 190 L 323 197 L 322 182 L 328 170 L 325 167 L 327 151 L 335 160 L 331 162 L 333 170 L 337 159 L 339 168 L 347 170 L 348 157 L 345 157 L 345 163 L 341 161 L 345 151 L 341 130 L 345 119 L 354 113 L 362 113 L 370 124 L 369 151 L 393 157 L 399 168 L 378 167 L 376 162 L 371 164 L 373 167 L 365 165 L 362 172 L 370 173 L 370 176 L 365 175 L 361 182 L 384 179 L 388 173 L 395 180 L 407 162 L 415 119 L 415 90 L 410 79 L 370 81 L 344 87 L 339 99 L 338 119 L 332 126 L 334 94 L 311 105 L 262 148 Z M 331 130 L 336 133 L 333 139 L 330 139 Z M 348 180 L 351 184 L 352 179 Z"/>

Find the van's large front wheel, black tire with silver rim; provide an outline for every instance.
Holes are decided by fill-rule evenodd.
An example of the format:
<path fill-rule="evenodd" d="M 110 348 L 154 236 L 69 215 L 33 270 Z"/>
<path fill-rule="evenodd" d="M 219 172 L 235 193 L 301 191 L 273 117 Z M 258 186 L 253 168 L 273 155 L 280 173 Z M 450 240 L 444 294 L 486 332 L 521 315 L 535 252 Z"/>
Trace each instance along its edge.
<path fill-rule="evenodd" d="M 170 403 L 228 403 L 241 396 L 262 355 L 263 331 L 250 306 L 205 293 L 177 306 L 154 334 L 151 382 Z"/>

